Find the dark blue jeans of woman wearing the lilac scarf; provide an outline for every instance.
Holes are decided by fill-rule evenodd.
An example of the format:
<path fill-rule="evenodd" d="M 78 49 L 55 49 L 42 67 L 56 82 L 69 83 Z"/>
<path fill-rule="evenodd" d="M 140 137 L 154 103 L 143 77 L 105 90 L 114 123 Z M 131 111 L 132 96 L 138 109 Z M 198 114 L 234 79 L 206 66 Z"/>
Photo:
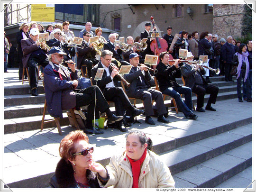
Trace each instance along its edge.
<path fill-rule="evenodd" d="M 238 82 L 238 85 L 237 85 L 238 98 L 242 98 L 241 85 L 242 85 L 242 81 L 243 81 L 243 87 L 244 87 L 244 85 L 246 85 L 247 99 L 251 99 L 252 98 L 252 92 L 251 92 L 252 88 L 251 88 L 250 78 L 249 78 L 249 74 L 248 74 L 246 82 L 244 82 L 245 73 L 246 73 L 246 70 L 241 70 L 240 76 L 237 79 L 237 82 Z"/>

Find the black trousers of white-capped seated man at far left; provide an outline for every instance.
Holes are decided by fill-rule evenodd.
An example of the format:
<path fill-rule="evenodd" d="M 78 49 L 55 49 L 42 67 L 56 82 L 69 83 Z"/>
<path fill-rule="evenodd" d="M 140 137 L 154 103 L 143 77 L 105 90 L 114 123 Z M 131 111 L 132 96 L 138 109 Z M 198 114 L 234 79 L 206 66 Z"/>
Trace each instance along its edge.
<path fill-rule="evenodd" d="M 47 64 L 49 64 L 49 60 L 46 55 L 39 55 L 35 57 L 30 56 L 30 58 L 28 59 L 27 66 L 31 89 L 38 87 L 38 65 L 42 65 L 42 67 L 45 68 Z"/>

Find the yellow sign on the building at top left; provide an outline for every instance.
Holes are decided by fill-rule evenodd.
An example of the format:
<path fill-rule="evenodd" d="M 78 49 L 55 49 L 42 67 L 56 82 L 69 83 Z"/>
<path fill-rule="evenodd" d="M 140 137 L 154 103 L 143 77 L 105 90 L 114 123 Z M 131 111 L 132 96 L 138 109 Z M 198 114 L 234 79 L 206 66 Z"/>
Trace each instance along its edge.
<path fill-rule="evenodd" d="M 55 21 L 54 4 L 32 4 L 31 5 L 31 21 Z"/>

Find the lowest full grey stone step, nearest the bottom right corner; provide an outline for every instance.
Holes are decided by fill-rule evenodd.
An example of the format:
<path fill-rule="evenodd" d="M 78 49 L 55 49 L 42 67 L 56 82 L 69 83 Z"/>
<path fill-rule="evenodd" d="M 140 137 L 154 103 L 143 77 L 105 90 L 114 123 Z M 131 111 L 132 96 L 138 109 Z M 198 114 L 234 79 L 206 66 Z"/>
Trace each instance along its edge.
<path fill-rule="evenodd" d="M 252 141 L 174 174 L 176 188 L 213 188 L 252 165 Z"/>

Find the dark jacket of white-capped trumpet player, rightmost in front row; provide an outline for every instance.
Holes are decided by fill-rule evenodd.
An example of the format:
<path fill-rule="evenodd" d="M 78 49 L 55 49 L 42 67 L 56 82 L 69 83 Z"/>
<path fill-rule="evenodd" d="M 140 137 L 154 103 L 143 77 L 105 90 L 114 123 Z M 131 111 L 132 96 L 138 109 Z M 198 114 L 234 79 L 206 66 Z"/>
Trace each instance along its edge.
<path fill-rule="evenodd" d="M 203 83 L 208 84 L 202 76 L 202 75 L 205 74 L 204 68 L 198 69 L 198 70 L 199 70 L 200 75 L 202 77 Z M 185 86 L 189 87 L 192 90 L 194 85 L 195 85 L 196 70 L 192 69 L 192 67 L 189 64 L 184 64 L 183 66 L 181 66 L 181 72 L 182 72 L 182 75 L 185 79 Z"/>

